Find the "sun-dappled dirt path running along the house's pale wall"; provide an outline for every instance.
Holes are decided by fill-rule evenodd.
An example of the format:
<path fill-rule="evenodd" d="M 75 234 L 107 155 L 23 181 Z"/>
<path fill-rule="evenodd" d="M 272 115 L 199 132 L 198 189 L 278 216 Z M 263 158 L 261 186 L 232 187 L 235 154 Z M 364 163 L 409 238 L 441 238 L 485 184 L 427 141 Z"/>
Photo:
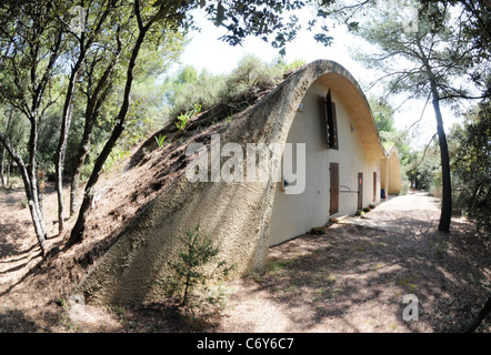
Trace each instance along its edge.
<path fill-rule="evenodd" d="M 234 283 L 218 331 L 461 331 L 491 290 L 490 245 L 462 219 L 451 235 L 435 232 L 439 216 L 432 197 L 409 194 L 272 247 L 267 273 Z M 417 322 L 402 317 L 409 294 Z"/>

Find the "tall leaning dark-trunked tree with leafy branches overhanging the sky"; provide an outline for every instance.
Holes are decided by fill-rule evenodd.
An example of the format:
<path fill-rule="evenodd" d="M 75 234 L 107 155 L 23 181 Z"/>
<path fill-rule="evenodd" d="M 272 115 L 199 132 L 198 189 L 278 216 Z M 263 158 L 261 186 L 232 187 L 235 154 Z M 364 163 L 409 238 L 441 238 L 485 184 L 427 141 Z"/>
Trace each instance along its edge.
<path fill-rule="evenodd" d="M 314 1 L 310 2 L 317 3 Z M 324 1 L 325 6 L 330 3 L 331 1 Z M 280 51 L 284 51 L 285 43 L 297 36 L 299 26 L 297 24 L 298 19 L 294 16 L 290 16 L 289 21 L 283 21 L 283 11 L 298 10 L 304 7 L 304 2 L 297 0 L 250 0 L 246 2 L 232 0 L 218 2 L 203 0 L 157 0 L 154 2 L 148 2 L 134 0 L 132 3 L 131 18 L 134 18 L 137 21 L 137 29 L 134 42 L 131 47 L 131 55 L 127 65 L 121 109 L 114 120 L 116 124 L 111 135 L 97 158 L 92 173 L 86 185 L 79 215 L 68 240 L 69 246 L 81 242 L 83 239 L 84 225 L 93 199 L 94 185 L 98 182 L 106 160 L 124 130 L 130 92 L 134 78 L 133 70 L 148 33 L 154 29 L 160 33 L 187 29 L 193 23 L 190 11 L 201 7 L 210 20 L 217 26 L 224 27 L 228 30 L 228 33 L 222 37 L 222 40 L 226 42 L 237 45 L 241 44 L 248 36 L 253 34 L 261 37 L 264 41 L 268 41 L 268 37 L 274 36 L 274 40 L 271 44 L 280 49 Z M 328 41 L 325 40 L 325 42 Z"/>

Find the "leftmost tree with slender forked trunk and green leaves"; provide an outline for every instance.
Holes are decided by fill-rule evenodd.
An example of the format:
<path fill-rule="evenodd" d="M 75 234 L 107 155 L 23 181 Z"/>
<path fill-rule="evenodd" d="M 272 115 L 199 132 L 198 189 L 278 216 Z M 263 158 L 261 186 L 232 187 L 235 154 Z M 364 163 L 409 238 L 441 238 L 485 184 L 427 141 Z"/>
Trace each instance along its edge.
<path fill-rule="evenodd" d="M 46 223 L 37 179 L 39 125 L 53 98 L 57 60 L 63 30 L 54 23 L 50 1 L 8 2 L 0 8 L 0 95 L 30 122 L 28 162 L 4 133 L 0 142 L 19 166 L 41 253 L 46 253 Z"/>

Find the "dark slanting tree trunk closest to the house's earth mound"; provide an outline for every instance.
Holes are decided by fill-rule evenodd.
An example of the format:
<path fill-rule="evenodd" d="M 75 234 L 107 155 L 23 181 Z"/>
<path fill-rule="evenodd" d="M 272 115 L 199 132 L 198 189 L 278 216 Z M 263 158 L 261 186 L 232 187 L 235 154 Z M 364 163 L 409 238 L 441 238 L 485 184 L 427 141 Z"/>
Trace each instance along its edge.
<path fill-rule="evenodd" d="M 119 136 L 121 135 L 121 133 L 124 130 L 124 120 L 126 120 L 128 109 L 129 109 L 130 92 L 131 92 L 131 85 L 133 82 L 133 69 L 137 63 L 138 53 L 140 51 L 141 44 L 143 43 L 144 37 L 150 28 L 150 24 L 151 23 L 147 24 L 146 27 L 140 27 L 137 42 L 134 43 L 133 50 L 131 52 L 131 58 L 128 63 L 127 82 L 124 85 L 123 102 L 122 102 L 121 109 L 118 113 L 118 118 L 116 121 L 117 123 L 111 132 L 111 136 L 109 138 L 108 142 L 106 143 L 104 148 L 102 149 L 102 152 L 97 158 L 92 173 L 89 178 L 89 181 L 87 182 L 86 191 L 83 194 L 82 205 L 80 206 L 79 216 L 78 216 L 77 222 L 73 226 L 73 230 L 71 231 L 70 239 L 68 240 L 68 246 L 71 246 L 76 243 L 80 243 L 83 239 L 83 231 L 86 227 L 87 219 L 89 216 L 90 205 L 91 205 L 91 202 L 93 199 L 93 190 L 94 190 L 94 186 L 99 180 L 99 174 L 102 171 L 106 160 L 108 159 L 109 154 L 111 153 Z"/>

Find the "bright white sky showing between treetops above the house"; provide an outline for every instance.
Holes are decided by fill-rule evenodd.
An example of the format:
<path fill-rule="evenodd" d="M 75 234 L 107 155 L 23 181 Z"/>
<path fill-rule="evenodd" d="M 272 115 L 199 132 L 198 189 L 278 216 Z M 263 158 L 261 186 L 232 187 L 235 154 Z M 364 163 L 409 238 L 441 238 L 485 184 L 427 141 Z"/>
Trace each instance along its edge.
<path fill-rule="evenodd" d="M 295 12 L 295 14 L 300 19 L 305 17 L 311 19 L 313 16 L 309 10 L 302 10 L 302 12 Z M 206 20 L 200 10 L 194 13 L 194 19 L 201 28 L 201 32 L 190 32 L 188 37 L 190 42 L 181 57 L 181 65 L 190 64 L 199 71 L 207 69 L 213 74 L 226 74 L 230 73 L 246 54 L 254 54 L 268 63 L 279 57 L 278 49 L 272 48 L 270 43 L 257 38 L 248 38 L 242 47 L 231 47 L 219 40 L 226 30 L 223 28 L 217 28 L 210 21 Z M 302 23 L 307 23 L 307 21 L 302 21 Z M 312 32 L 300 32 L 293 42 L 288 43 L 285 61 L 304 60 L 309 63 L 318 59 L 333 60 L 343 65 L 362 88 L 368 88 L 370 82 L 379 78 L 380 73 L 365 69 L 361 63 L 353 60 L 350 54 L 350 52 L 357 48 L 361 47 L 363 50 L 367 50 L 367 45 L 371 44 L 349 33 L 342 26 L 331 26 L 329 36 L 334 38 L 333 44 L 324 47 L 314 41 Z M 178 67 L 176 65 L 173 70 L 177 69 Z M 374 95 L 382 94 L 380 89 L 364 91 L 367 97 L 371 93 Z M 389 102 L 393 108 L 399 108 L 404 100 L 405 98 L 403 95 L 399 95 L 391 98 Z M 431 101 L 423 110 L 424 104 L 425 100 L 410 100 L 394 113 L 394 124 L 399 130 L 411 126 L 423 115 L 420 123 L 413 125 L 408 132 L 411 144 L 414 148 L 425 146 L 437 131 Z M 454 116 L 450 108 L 447 106 L 442 106 L 442 113 L 444 116 L 445 132 L 448 133 L 454 122 L 460 122 L 460 118 Z"/>

